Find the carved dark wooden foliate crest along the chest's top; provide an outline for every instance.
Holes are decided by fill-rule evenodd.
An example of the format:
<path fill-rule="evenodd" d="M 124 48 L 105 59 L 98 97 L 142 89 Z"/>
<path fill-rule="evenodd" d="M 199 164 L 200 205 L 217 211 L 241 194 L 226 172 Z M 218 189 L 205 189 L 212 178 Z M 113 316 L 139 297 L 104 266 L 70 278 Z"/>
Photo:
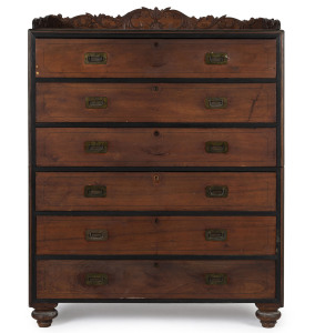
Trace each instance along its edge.
<path fill-rule="evenodd" d="M 59 16 L 48 16 L 33 20 L 33 29 L 110 29 L 110 30 L 212 30 L 212 29 L 272 29 L 278 30 L 278 20 L 251 19 L 237 20 L 223 16 L 214 18 L 207 16 L 196 19 L 187 17 L 182 12 L 165 9 L 148 9 L 142 7 L 125 16 L 115 18 L 99 14 L 85 13 L 74 18 L 62 18 Z"/>

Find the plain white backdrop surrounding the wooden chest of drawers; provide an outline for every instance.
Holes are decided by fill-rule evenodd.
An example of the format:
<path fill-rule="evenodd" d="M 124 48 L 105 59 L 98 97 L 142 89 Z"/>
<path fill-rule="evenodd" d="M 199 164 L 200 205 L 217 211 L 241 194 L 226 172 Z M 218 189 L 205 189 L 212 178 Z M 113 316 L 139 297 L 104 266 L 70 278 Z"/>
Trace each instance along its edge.
<path fill-rule="evenodd" d="M 314 332 L 314 16 L 312 1 L 3 1 L 1 4 L 2 332 L 35 332 L 28 307 L 27 30 L 50 13 L 124 14 L 142 6 L 187 16 L 280 19 L 285 30 L 285 307 L 274 330 Z M 60 304 L 51 332 L 258 332 L 253 304 Z"/>

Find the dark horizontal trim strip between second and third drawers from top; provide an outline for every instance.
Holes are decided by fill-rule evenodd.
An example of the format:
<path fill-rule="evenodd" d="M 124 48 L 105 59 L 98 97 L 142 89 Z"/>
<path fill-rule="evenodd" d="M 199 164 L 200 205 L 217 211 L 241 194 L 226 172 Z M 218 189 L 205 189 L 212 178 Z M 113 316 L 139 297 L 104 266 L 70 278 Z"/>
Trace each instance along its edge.
<path fill-rule="evenodd" d="M 37 128 L 276 128 L 275 122 L 38 122 Z"/>

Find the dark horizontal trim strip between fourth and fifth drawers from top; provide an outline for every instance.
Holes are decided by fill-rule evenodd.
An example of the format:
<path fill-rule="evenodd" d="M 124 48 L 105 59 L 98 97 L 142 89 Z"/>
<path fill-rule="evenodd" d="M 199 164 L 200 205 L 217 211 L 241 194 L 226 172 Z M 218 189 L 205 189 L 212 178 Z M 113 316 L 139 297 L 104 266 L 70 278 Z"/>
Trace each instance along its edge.
<path fill-rule="evenodd" d="M 276 212 L 248 211 L 37 211 L 45 216 L 276 216 Z"/>

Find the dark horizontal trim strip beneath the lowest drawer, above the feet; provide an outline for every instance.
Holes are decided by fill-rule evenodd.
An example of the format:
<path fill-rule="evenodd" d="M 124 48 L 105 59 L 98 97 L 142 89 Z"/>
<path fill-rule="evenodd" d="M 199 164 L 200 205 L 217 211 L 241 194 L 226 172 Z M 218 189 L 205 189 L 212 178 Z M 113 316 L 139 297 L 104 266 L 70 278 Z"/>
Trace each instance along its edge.
<path fill-rule="evenodd" d="M 33 303 L 278 303 L 277 299 L 34 299 Z"/>

